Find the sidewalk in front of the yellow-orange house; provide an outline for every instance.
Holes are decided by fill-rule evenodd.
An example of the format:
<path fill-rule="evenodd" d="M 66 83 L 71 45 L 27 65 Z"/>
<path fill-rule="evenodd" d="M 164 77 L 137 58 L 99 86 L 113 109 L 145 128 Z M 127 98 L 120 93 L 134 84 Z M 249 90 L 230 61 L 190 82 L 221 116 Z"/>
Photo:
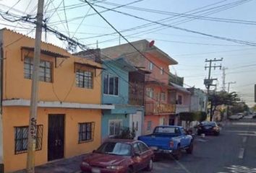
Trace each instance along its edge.
<path fill-rule="evenodd" d="M 80 164 L 82 158 L 86 154 L 80 156 L 74 156 L 69 159 L 60 159 L 57 161 L 52 161 L 48 164 L 43 164 L 35 167 L 35 173 L 78 173 L 80 172 Z M 26 173 L 25 169 L 14 173 Z"/>

